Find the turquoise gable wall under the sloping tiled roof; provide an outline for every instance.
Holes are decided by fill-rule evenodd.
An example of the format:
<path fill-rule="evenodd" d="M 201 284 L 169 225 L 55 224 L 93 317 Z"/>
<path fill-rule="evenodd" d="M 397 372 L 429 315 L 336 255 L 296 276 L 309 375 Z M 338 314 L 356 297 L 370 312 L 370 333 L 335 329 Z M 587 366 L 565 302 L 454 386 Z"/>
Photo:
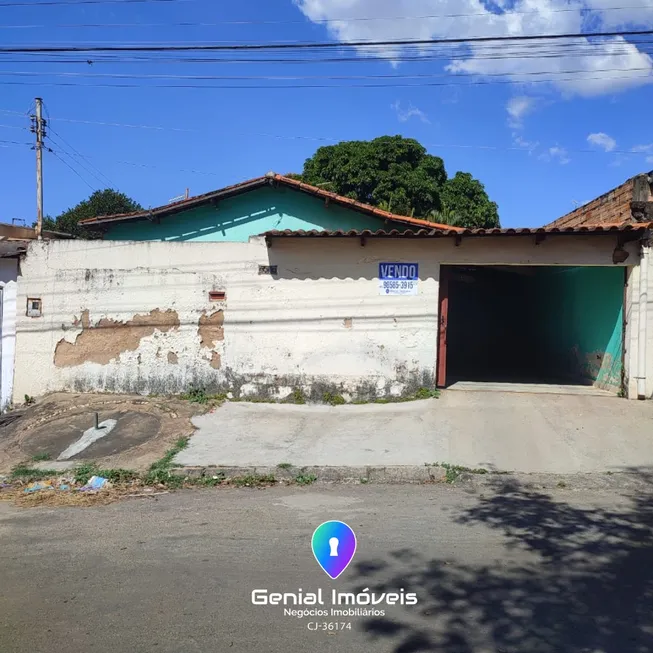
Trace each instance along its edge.
<path fill-rule="evenodd" d="M 139 220 L 109 228 L 106 240 L 247 242 L 273 229 L 382 229 L 383 220 L 366 216 L 288 188 L 262 188 L 176 215 L 160 222 Z M 404 230 L 408 227 L 402 226 Z"/>

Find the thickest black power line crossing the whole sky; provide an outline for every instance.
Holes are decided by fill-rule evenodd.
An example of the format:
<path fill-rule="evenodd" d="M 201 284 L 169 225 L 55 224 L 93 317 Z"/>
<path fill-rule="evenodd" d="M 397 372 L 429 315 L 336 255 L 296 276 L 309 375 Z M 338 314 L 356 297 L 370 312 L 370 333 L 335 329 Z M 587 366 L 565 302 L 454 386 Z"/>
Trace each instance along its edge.
<path fill-rule="evenodd" d="M 171 0 L 172 1 L 172 0 Z M 232 43 L 229 45 L 64 45 L 64 46 L 6 46 L 0 48 L 0 53 L 30 53 L 30 52 L 220 52 L 246 50 L 327 50 L 334 48 L 373 48 L 373 47 L 409 47 L 440 44 L 474 44 L 474 43 L 505 43 L 524 41 L 551 41 L 560 39 L 612 38 L 617 36 L 651 36 L 653 30 L 616 30 L 611 32 L 577 32 L 566 34 L 520 34 L 514 36 L 474 36 L 460 38 L 438 39 L 408 39 L 408 40 L 363 40 L 344 42 L 294 42 L 294 43 Z"/>

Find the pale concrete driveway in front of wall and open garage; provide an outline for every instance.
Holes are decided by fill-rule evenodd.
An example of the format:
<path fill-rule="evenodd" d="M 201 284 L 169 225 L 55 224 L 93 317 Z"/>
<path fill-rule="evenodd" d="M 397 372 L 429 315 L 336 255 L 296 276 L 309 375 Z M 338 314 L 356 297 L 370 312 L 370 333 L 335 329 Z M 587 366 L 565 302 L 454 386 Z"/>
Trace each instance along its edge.
<path fill-rule="evenodd" d="M 552 474 L 653 465 L 653 402 L 616 397 L 445 392 L 389 405 L 227 403 L 193 423 L 181 465 L 444 462 Z"/>

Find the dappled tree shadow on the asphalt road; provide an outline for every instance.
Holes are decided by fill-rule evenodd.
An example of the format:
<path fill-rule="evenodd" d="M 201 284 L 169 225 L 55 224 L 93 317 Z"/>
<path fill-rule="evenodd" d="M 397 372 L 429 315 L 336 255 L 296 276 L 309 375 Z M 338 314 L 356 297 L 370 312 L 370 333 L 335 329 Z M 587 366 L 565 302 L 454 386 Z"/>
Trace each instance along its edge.
<path fill-rule="evenodd" d="M 403 587 L 420 600 L 364 630 L 394 653 L 653 651 L 653 472 L 637 474 L 650 491 L 610 508 L 498 482 L 456 521 L 500 531 L 512 559 L 465 565 L 415 547 L 362 562 L 359 590 Z"/>

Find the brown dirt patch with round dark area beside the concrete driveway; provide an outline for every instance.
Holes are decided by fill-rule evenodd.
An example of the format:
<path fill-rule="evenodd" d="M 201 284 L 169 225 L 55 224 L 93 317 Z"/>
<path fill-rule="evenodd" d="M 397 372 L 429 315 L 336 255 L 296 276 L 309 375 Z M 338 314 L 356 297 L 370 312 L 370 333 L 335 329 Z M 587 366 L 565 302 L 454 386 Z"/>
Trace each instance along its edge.
<path fill-rule="evenodd" d="M 17 419 L 0 424 L 0 472 L 29 463 L 35 454 L 49 454 L 56 461 L 65 447 L 94 425 L 96 412 L 100 421 L 111 418 L 118 423 L 75 460 L 93 460 L 105 469 L 144 471 L 178 438 L 194 433 L 191 418 L 203 411 L 198 404 L 175 398 L 47 395 L 25 410 L 9 413 Z"/>

